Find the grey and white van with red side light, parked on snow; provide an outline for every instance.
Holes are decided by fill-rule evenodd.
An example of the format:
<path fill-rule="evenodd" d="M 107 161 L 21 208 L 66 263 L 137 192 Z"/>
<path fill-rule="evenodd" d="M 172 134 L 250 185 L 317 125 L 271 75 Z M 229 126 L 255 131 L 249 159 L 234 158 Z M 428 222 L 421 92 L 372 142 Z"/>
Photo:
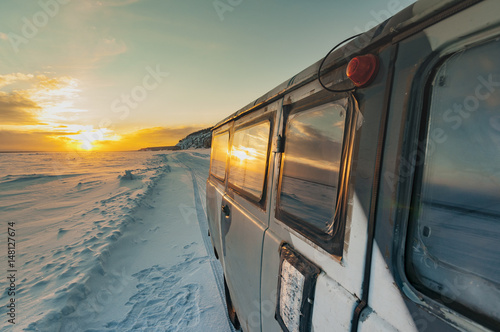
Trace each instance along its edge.
<path fill-rule="evenodd" d="M 418 1 L 218 123 L 207 213 L 245 332 L 500 331 L 500 1 Z"/>

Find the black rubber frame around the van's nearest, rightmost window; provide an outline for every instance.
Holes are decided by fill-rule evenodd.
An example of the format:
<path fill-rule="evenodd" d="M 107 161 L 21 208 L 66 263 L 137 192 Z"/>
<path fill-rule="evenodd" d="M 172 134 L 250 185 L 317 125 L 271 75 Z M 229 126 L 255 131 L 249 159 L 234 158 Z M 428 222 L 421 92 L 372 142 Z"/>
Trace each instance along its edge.
<path fill-rule="evenodd" d="M 493 42 L 498 39 L 499 31 L 496 29 L 495 31 L 496 32 L 493 35 L 489 35 L 488 37 L 479 39 L 477 37 L 474 38 L 474 36 L 469 36 L 465 40 L 450 43 L 445 50 L 422 54 L 423 61 L 413 78 L 409 94 L 410 96 L 406 105 L 409 114 L 406 119 L 406 128 L 404 133 L 406 143 L 402 147 L 403 151 L 400 152 L 402 159 L 412 160 L 410 158 L 412 148 L 416 148 L 422 155 L 424 155 L 424 159 L 413 163 L 411 169 L 412 175 L 409 176 L 409 181 L 399 183 L 397 189 L 397 231 L 395 233 L 394 243 L 399 245 L 399 248 L 396 250 L 398 256 L 395 260 L 397 271 L 396 276 L 399 279 L 399 287 L 410 300 L 427 308 L 427 310 L 439 317 L 442 317 L 448 322 L 451 321 L 443 313 L 452 311 L 460 317 L 458 321 L 453 321 L 453 325 L 462 327 L 470 326 L 470 323 L 462 325 L 464 320 L 472 322 L 473 324 L 485 326 L 487 328 L 494 327 L 495 322 L 463 307 L 459 303 L 450 305 L 437 300 L 439 295 L 436 297 L 430 295 L 432 290 L 423 292 L 418 289 L 409 276 L 411 273 L 411 267 L 409 267 L 407 263 L 407 246 L 408 241 L 411 241 L 410 223 L 414 223 L 418 219 L 415 211 L 417 211 L 416 209 L 420 202 L 420 194 L 422 193 L 425 158 L 427 157 L 427 131 L 431 121 L 430 107 L 433 94 L 432 82 L 434 81 L 435 75 L 441 66 L 457 53 Z M 394 87 L 392 87 L 392 89 L 394 90 Z M 401 171 L 401 165 L 398 167 L 399 171 Z"/>

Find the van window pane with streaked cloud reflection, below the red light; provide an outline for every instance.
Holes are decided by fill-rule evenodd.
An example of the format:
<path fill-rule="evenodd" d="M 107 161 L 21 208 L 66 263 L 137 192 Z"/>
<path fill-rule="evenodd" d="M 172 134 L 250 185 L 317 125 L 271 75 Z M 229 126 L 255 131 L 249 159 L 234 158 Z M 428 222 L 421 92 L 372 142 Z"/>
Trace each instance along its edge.
<path fill-rule="evenodd" d="M 291 114 L 279 192 L 280 219 L 298 219 L 323 233 L 334 222 L 346 109 L 328 103 Z"/>

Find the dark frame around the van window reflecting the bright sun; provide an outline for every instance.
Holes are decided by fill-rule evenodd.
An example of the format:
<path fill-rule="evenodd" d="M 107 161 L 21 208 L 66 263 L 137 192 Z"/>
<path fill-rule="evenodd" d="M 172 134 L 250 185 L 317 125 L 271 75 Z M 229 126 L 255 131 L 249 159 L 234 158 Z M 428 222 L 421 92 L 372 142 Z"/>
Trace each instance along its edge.
<path fill-rule="evenodd" d="M 229 143 L 229 150 L 228 150 L 228 163 L 227 163 L 227 168 L 226 168 L 226 179 L 227 179 L 227 189 L 228 191 L 231 192 L 231 194 L 237 194 L 241 197 L 243 197 L 245 200 L 249 201 L 253 205 L 258 206 L 262 210 L 266 210 L 266 201 L 267 201 L 267 183 L 268 183 L 268 176 L 269 176 L 269 160 L 270 160 L 270 154 L 271 154 L 271 149 L 272 149 L 272 139 L 273 139 L 273 132 L 274 132 L 274 118 L 275 118 L 275 112 L 272 112 L 270 114 L 264 114 L 262 116 L 258 116 L 255 119 L 252 119 L 248 122 L 244 122 L 241 124 L 234 125 L 233 129 L 231 130 L 231 139 Z M 260 123 L 265 123 L 266 121 L 269 122 L 269 135 L 268 135 L 268 141 L 267 141 L 267 152 L 266 152 L 266 166 L 265 166 L 265 172 L 264 172 L 264 183 L 262 187 L 262 193 L 260 197 L 257 197 L 250 193 L 249 191 L 238 187 L 236 184 L 232 183 L 229 180 L 230 173 L 231 173 L 231 153 L 232 153 L 232 148 L 233 148 L 233 139 L 234 135 L 238 130 L 242 130 L 245 128 L 249 128 L 255 125 L 258 125 Z"/>

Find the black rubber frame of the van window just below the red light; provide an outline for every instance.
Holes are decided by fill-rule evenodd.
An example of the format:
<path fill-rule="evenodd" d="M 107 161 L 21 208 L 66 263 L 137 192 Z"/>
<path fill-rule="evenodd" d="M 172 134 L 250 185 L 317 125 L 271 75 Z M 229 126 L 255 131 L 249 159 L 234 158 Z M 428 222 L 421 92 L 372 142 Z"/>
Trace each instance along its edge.
<path fill-rule="evenodd" d="M 342 99 L 346 99 L 346 119 L 344 125 L 344 137 L 342 138 L 342 152 L 340 157 L 340 169 L 338 178 L 338 191 L 336 197 L 336 205 L 334 212 L 333 221 L 333 231 L 332 234 L 327 234 L 320 230 L 316 230 L 311 225 L 300 218 L 282 210 L 280 208 L 280 197 L 281 197 L 281 186 L 283 183 L 283 168 L 284 168 L 284 153 L 280 156 L 280 167 L 278 175 L 278 185 L 276 194 L 276 208 L 275 208 L 275 218 L 292 228 L 308 240 L 312 241 L 316 245 L 320 246 L 322 249 L 328 253 L 335 255 L 337 257 L 342 257 L 344 249 L 344 235 L 345 235 L 345 224 L 346 224 L 346 198 L 348 196 L 348 177 L 349 168 L 351 165 L 352 150 L 354 146 L 354 116 L 355 112 L 359 110 L 356 109 L 353 99 L 354 96 L 349 93 L 332 94 L 329 91 L 321 90 L 320 92 L 309 96 L 307 98 L 296 101 L 283 106 L 283 127 L 281 135 L 284 138 L 284 147 L 286 146 L 286 129 L 289 123 L 289 117 L 293 114 L 304 112 L 315 107 L 322 106 L 329 102 L 335 102 Z"/>

